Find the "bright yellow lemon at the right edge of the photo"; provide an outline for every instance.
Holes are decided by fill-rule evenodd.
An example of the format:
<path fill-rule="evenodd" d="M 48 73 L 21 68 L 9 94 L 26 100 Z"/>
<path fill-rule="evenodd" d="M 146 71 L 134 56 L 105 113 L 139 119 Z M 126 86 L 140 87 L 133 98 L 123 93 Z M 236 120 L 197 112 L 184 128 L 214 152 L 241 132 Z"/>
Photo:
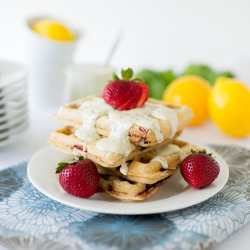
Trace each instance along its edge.
<path fill-rule="evenodd" d="M 225 133 L 247 136 L 250 133 L 250 90 L 236 79 L 218 78 L 209 96 L 209 113 Z"/>

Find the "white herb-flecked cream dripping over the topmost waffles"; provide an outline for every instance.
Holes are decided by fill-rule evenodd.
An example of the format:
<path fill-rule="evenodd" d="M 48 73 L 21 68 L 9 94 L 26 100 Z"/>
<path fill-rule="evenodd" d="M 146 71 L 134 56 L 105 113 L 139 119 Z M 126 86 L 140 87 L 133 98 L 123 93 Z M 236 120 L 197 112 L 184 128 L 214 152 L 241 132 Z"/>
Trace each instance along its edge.
<path fill-rule="evenodd" d="M 75 135 L 88 142 L 97 141 L 97 148 L 105 152 L 113 152 L 124 156 L 120 171 L 127 174 L 125 158 L 131 152 L 131 144 L 128 139 L 129 129 L 132 125 L 151 129 L 158 143 L 163 141 L 163 133 L 159 122 L 154 119 L 166 120 L 170 124 L 172 138 L 178 128 L 177 111 L 166 106 L 146 102 L 141 108 L 118 111 L 106 104 L 103 98 L 96 97 L 84 102 L 80 108 L 83 110 L 83 125 L 76 130 Z M 108 138 L 101 139 L 96 132 L 96 119 L 102 115 L 108 115 L 111 123 L 111 131 Z M 151 118 L 152 116 L 154 118 Z"/>

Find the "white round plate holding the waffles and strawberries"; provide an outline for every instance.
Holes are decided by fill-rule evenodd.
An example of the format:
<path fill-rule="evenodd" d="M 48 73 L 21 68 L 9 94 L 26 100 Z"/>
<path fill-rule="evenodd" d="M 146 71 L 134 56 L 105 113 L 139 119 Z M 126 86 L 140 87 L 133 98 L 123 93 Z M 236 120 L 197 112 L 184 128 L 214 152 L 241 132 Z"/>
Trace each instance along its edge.
<path fill-rule="evenodd" d="M 208 147 L 198 146 L 212 152 L 220 164 L 220 174 L 216 180 L 204 189 L 195 190 L 184 181 L 178 170 L 159 188 L 156 194 L 142 202 L 126 203 L 101 194 L 95 194 L 90 198 L 79 198 L 66 193 L 59 184 L 58 174 L 55 174 L 55 170 L 57 164 L 65 161 L 68 155 L 50 146 L 41 149 L 32 157 L 27 173 L 31 183 L 40 192 L 72 207 L 108 214 L 169 212 L 207 200 L 218 193 L 227 182 L 229 170 L 223 158 Z"/>

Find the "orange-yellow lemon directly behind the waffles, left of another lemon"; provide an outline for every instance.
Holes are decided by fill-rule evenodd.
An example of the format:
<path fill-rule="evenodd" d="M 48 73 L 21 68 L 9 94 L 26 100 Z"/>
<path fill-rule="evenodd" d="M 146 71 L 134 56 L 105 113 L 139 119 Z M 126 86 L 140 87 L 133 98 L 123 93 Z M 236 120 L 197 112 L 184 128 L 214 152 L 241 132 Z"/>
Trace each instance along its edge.
<path fill-rule="evenodd" d="M 190 125 L 199 125 L 208 118 L 208 96 L 210 84 L 199 76 L 182 76 L 170 83 L 163 94 L 163 100 L 188 105 L 194 117 Z"/>

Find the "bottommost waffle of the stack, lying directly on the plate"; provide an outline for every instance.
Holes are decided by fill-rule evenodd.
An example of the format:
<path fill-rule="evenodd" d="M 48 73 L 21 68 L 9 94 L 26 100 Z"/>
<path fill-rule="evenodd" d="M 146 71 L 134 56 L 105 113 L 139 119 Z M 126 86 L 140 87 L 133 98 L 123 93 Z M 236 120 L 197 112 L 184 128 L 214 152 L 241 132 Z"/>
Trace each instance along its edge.
<path fill-rule="evenodd" d="M 121 177 L 100 174 L 99 192 L 126 202 L 143 201 L 154 194 L 164 180 L 153 185 L 131 182 Z"/>

